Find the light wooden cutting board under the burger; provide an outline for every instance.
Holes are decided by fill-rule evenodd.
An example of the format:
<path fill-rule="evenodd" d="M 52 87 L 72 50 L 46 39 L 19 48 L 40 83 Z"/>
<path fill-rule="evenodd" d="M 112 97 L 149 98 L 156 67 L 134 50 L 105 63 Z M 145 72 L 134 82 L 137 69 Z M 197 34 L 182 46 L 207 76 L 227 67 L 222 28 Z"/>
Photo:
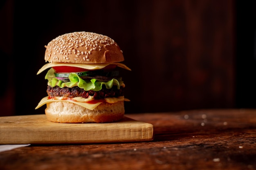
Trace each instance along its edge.
<path fill-rule="evenodd" d="M 56 123 L 45 114 L 0 117 L 0 144 L 81 144 L 153 140 L 153 125 L 124 117 L 112 123 Z"/>

